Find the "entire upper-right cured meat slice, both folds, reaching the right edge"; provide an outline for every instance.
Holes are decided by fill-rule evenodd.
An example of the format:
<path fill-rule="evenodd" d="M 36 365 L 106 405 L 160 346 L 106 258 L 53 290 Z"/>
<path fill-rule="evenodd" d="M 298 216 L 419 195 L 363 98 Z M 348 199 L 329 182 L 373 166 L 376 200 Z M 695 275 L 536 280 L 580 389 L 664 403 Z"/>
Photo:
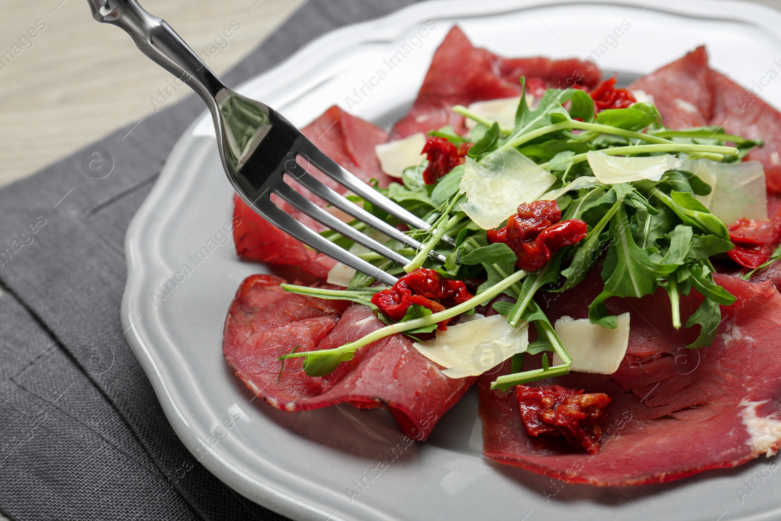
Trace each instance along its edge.
<path fill-rule="evenodd" d="M 653 95 L 662 123 L 674 130 L 718 125 L 730 134 L 764 139 L 765 146 L 754 148 L 747 160 L 761 161 L 769 189 L 781 191 L 781 113 L 745 87 L 711 70 L 704 47 L 640 78 L 629 89 Z"/>

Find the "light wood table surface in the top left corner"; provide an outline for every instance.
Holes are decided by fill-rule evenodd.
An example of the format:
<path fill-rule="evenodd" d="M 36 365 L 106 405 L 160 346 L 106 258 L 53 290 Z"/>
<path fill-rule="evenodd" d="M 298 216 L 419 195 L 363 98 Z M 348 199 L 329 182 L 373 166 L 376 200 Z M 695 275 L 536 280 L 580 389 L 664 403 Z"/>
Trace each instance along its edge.
<path fill-rule="evenodd" d="M 302 3 L 145 0 L 143 5 L 198 53 L 231 23 L 238 26 L 217 42 L 222 48 L 209 49 L 216 52 L 207 64 L 219 75 Z M 36 37 L 30 38 L 30 29 Z M 2 0 L 0 58 L 15 50 L 10 64 L 0 61 L 0 186 L 155 112 L 150 98 L 159 98 L 157 90 L 173 79 L 138 52 L 123 30 L 95 22 L 84 0 Z M 182 87 L 171 100 L 189 92 Z"/>

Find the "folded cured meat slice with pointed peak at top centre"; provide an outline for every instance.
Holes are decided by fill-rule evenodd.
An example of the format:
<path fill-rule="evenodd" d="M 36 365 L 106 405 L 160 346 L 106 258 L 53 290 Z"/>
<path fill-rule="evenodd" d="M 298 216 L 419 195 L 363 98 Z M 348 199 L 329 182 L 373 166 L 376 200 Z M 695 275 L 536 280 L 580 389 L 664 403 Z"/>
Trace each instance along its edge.
<path fill-rule="evenodd" d="M 594 87 L 601 77 L 597 66 L 579 59 L 505 59 L 475 48 L 458 27 L 453 27 L 434 53 L 415 104 L 391 131 L 391 140 L 445 125 L 464 130 L 464 118 L 453 105 L 519 96 L 519 78 L 539 78 L 549 87 Z"/>

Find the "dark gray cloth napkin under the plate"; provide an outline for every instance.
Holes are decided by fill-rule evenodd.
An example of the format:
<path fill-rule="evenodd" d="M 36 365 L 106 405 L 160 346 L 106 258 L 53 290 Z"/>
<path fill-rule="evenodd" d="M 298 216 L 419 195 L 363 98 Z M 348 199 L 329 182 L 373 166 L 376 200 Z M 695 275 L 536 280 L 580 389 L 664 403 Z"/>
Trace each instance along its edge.
<path fill-rule="evenodd" d="M 319 34 L 410 3 L 312 0 L 224 80 L 236 85 Z M 0 191 L 0 280 L 10 291 L 0 298 L 5 516 L 284 519 L 184 448 L 119 322 L 125 230 L 203 109 L 191 96 Z"/>

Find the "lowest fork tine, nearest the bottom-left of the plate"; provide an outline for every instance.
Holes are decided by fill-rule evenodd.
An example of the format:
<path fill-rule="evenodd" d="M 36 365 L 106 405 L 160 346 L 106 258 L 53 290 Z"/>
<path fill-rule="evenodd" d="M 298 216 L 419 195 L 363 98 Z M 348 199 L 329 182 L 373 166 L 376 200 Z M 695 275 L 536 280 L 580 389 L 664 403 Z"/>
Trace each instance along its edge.
<path fill-rule="evenodd" d="M 304 244 L 307 244 L 310 248 L 314 248 L 316 251 L 328 255 L 331 259 L 335 259 L 342 264 L 350 266 L 352 269 L 361 273 L 366 273 L 369 277 L 372 277 L 374 280 L 379 280 L 383 284 L 387 284 L 388 286 L 396 284 L 396 281 L 398 280 L 396 277 L 369 264 L 369 262 L 366 262 L 357 255 L 337 246 L 337 244 L 333 244 L 333 242 L 321 237 L 315 231 L 305 227 L 305 225 L 294 219 L 293 216 L 276 206 L 268 195 L 259 198 L 254 204 L 246 199 L 245 202 L 247 202 L 255 212 L 258 212 L 263 219 L 266 219 L 275 227 L 284 230 L 287 234 L 295 237 Z"/>

